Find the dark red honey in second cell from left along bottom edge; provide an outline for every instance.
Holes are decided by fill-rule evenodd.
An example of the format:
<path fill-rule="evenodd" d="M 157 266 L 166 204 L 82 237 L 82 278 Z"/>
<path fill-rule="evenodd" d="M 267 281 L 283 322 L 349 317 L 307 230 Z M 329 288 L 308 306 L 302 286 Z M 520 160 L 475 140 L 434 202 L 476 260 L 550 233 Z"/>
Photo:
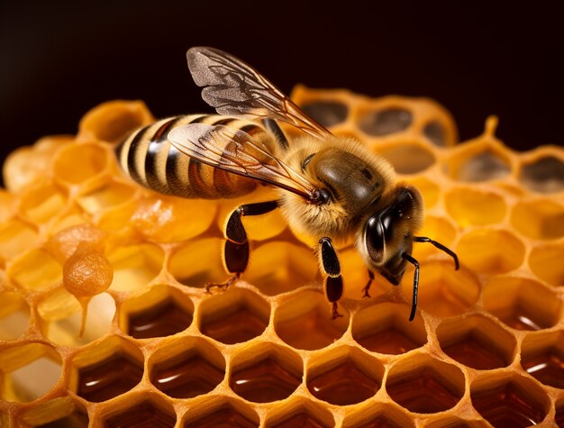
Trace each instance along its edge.
<path fill-rule="evenodd" d="M 149 401 L 134 405 L 121 414 L 104 421 L 105 428 L 167 428 L 174 427 L 177 422 L 176 414 L 171 414 L 166 410 L 153 405 Z"/>

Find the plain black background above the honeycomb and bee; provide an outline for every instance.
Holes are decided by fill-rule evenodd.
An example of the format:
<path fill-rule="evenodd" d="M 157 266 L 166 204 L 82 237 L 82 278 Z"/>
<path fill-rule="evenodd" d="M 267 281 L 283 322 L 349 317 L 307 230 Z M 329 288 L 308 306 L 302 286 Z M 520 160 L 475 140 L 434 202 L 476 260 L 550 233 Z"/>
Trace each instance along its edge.
<path fill-rule="evenodd" d="M 211 111 L 186 68 L 195 45 L 235 54 L 284 92 L 430 96 L 461 140 L 497 114 L 516 150 L 562 145 L 564 2 L 520 3 L 3 1 L 0 160 L 76 132 L 111 99 L 143 99 L 158 117 Z"/>

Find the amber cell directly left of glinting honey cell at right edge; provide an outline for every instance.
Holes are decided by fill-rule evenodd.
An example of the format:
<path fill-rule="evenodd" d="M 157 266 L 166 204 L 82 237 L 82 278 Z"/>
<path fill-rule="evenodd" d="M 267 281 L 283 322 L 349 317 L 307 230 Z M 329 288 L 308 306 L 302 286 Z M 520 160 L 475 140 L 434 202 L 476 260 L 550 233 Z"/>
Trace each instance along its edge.
<path fill-rule="evenodd" d="M 498 369 L 514 360 L 514 335 L 485 316 L 443 321 L 436 334 L 445 354 L 472 369 Z"/>

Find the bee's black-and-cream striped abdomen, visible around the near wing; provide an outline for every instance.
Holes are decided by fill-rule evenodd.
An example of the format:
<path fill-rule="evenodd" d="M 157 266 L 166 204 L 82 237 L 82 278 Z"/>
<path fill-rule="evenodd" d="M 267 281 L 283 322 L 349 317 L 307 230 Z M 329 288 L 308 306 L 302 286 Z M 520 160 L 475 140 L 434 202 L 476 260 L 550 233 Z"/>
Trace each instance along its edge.
<path fill-rule="evenodd" d="M 206 165 L 170 144 L 168 132 L 187 123 L 223 124 L 251 135 L 264 132 L 257 123 L 216 114 L 169 117 L 132 132 L 116 147 L 123 171 L 142 186 L 188 198 L 237 197 L 257 187 L 254 180 Z"/>

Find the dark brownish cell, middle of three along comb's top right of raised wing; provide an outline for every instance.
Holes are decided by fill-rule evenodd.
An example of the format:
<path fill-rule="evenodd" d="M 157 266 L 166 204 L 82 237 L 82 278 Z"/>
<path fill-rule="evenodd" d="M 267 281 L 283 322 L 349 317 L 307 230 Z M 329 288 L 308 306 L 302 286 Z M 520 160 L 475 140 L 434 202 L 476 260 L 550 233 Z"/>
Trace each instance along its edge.
<path fill-rule="evenodd" d="M 369 110 L 359 114 L 358 126 L 362 132 L 381 137 L 405 131 L 413 121 L 409 110 L 401 107 L 388 107 L 386 110 Z"/>

